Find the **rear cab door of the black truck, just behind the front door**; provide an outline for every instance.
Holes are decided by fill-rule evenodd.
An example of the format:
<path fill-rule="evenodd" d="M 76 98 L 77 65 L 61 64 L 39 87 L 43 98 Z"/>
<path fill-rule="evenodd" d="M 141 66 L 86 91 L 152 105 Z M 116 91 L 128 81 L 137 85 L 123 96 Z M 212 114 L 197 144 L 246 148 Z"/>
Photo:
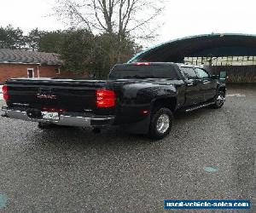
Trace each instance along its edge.
<path fill-rule="evenodd" d="M 198 78 L 195 68 L 192 66 L 181 66 L 184 82 L 186 83 L 184 107 L 199 104 L 203 101 L 201 95 L 201 79 Z"/>

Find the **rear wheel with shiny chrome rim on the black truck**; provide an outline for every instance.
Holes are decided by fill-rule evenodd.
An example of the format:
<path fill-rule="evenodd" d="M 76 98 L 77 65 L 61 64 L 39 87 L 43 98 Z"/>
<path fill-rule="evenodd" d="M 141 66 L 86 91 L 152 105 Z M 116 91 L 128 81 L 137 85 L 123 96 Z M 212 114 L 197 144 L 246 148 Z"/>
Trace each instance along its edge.
<path fill-rule="evenodd" d="M 151 115 L 149 126 L 149 136 L 154 139 L 162 139 L 168 135 L 172 129 L 173 115 L 168 108 L 159 108 Z"/>

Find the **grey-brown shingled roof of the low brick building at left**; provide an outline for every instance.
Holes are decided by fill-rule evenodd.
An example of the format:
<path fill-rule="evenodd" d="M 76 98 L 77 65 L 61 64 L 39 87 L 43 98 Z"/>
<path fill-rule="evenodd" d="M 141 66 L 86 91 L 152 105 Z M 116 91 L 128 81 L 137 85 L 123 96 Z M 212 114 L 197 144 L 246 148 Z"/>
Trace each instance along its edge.
<path fill-rule="evenodd" d="M 20 49 L 0 49 L 0 63 L 62 65 L 59 55 Z"/>

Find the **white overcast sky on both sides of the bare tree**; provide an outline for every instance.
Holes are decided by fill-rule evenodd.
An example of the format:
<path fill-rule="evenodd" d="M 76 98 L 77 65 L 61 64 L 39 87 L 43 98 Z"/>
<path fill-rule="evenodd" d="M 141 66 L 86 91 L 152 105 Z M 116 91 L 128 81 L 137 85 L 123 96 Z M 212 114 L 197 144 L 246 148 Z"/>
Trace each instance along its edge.
<path fill-rule="evenodd" d="M 49 17 L 54 0 L 8 0 L 0 4 L 0 26 L 19 26 L 24 32 L 65 29 Z M 256 34 L 256 1 L 253 0 L 166 0 L 166 12 L 160 19 L 160 37 L 152 43 L 162 43 L 178 37 L 212 32 Z"/>

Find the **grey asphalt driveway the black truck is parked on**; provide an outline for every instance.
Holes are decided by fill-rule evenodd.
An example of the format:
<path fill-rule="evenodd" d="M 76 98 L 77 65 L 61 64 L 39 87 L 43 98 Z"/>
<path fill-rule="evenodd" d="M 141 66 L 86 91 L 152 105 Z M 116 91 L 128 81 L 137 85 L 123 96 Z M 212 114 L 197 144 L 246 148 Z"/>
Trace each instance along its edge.
<path fill-rule="evenodd" d="M 221 109 L 177 114 L 162 141 L 0 118 L 0 212 L 164 212 L 164 199 L 255 204 L 256 88 L 228 94 Z"/>

